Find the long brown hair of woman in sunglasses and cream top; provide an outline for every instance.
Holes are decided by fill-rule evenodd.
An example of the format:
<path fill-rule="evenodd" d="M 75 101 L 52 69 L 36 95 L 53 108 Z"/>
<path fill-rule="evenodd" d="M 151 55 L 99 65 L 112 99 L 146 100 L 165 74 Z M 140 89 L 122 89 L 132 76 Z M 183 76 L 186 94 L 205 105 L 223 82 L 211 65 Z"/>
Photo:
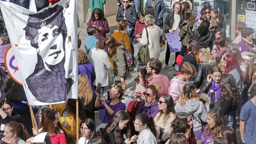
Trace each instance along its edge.
<path fill-rule="evenodd" d="M 172 96 L 169 94 L 164 94 L 162 96 L 162 98 L 164 98 L 164 102 L 166 102 L 167 108 L 165 110 L 165 112 L 163 110 L 159 111 L 159 116 L 156 118 L 156 121 L 159 121 L 159 119 L 163 116 L 164 117 L 164 121 L 163 124 L 166 124 L 166 121 L 168 118 L 171 117 L 171 113 L 175 116 L 176 115 L 176 111 L 174 109 L 174 103 L 172 100 Z"/>

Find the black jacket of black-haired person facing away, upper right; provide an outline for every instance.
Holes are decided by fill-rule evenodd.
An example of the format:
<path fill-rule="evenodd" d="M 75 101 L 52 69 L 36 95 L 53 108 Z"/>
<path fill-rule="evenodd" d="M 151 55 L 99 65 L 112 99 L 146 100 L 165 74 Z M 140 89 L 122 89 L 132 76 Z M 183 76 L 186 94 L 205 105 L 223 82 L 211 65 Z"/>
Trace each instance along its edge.
<path fill-rule="evenodd" d="M 210 49 L 212 49 L 212 43 L 215 40 L 215 35 L 211 31 L 208 31 L 205 36 L 201 36 L 198 29 L 199 28 L 194 30 L 193 38 L 199 41 L 201 48 L 210 47 Z"/>

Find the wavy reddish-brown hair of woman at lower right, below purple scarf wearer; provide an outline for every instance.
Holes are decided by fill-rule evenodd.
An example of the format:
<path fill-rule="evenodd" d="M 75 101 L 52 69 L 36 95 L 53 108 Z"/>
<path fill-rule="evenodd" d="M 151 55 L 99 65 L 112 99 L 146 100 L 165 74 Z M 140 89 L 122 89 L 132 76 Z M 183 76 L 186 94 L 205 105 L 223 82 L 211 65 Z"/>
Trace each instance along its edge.
<path fill-rule="evenodd" d="M 210 109 L 208 116 L 214 119 L 215 126 L 211 128 L 208 124 L 205 127 L 205 136 L 210 135 L 213 130 L 212 138 L 218 137 L 220 134 L 220 129 L 222 126 L 226 126 L 226 120 L 223 117 L 221 110 L 218 108 L 212 108 Z"/>

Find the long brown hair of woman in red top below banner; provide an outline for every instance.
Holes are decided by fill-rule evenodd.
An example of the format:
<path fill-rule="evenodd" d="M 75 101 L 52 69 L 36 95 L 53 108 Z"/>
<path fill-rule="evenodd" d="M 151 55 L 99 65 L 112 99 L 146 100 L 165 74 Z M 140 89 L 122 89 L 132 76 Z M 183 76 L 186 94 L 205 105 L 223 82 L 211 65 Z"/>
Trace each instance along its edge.
<path fill-rule="evenodd" d="M 41 128 L 43 127 L 43 131 L 47 132 L 50 136 L 60 134 L 61 130 L 63 131 L 60 122 L 58 122 L 57 127 L 54 125 L 56 114 L 58 114 L 57 111 L 53 109 L 46 109 L 42 113 Z"/>

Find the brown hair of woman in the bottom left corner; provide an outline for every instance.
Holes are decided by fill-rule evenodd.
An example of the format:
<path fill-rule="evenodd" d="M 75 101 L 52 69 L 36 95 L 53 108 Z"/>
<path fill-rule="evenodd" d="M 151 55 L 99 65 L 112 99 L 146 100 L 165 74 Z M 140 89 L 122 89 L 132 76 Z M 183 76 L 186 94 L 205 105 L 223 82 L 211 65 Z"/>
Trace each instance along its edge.
<path fill-rule="evenodd" d="M 16 133 L 17 137 L 21 138 L 22 140 L 26 141 L 29 138 L 29 134 L 27 128 L 18 122 L 11 121 L 5 124 L 5 127 L 8 126 L 12 133 Z"/>

